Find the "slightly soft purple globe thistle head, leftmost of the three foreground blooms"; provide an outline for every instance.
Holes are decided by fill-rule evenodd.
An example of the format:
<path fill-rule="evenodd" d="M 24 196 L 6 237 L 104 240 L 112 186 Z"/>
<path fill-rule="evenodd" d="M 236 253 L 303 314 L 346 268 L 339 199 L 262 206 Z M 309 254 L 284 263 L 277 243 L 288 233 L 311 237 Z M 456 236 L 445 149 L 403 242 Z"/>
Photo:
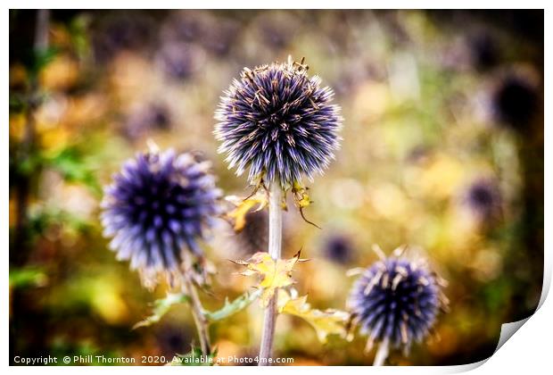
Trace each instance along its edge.
<path fill-rule="evenodd" d="M 210 162 L 173 150 L 136 154 L 105 188 L 103 234 L 117 259 L 130 261 L 144 285 L 181 281 L 186 254 L 202 257 L 198 239 L 219 213 Z"/>

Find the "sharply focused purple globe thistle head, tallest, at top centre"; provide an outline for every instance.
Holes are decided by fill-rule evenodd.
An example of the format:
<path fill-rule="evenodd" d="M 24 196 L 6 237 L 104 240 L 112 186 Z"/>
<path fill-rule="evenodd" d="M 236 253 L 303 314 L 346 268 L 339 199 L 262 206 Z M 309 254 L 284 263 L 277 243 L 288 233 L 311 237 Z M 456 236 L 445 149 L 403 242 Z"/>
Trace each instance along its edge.
<path fill-rule="evenodd" d="M 309 77 L 303 63 L 270 63 L 244 68 L 221 97 L 215 119 L 219 152 L 229 168 L 248 179 L 279 181 L 283 189 L 322 173 L 339 146 L 342 117 L 331 104 L 334 92 Z"/>

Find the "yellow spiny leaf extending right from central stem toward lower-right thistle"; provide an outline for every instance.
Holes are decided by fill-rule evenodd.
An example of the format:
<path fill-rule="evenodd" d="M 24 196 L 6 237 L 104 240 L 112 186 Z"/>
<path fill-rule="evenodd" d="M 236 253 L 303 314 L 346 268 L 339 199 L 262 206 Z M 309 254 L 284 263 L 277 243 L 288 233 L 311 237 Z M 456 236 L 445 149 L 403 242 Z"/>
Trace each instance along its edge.
<path fill-rule="evenodd" d="M 326 309 L 325 311 L 312 309 L 307 303 L 307 296 L 291 296 L 286 290 L 278 292 L 278 312 L 288 313 L 300 317 L 317 332 L 318 340 L 326 343 L 328 335 L 348 337 L 348 321 L 350 314 L 340 310 Z"/>

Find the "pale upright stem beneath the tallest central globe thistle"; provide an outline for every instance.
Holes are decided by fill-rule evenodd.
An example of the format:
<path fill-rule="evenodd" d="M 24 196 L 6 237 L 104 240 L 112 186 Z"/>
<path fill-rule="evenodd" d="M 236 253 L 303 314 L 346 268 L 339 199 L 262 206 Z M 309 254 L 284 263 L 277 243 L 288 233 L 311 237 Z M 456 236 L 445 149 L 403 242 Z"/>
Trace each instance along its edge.
<path fill-rule="evenodd" d="M 279 181 L 271 183 L 268 196 L 268 254 L 274 260 L 280 259 L 282 249 L 282 187 Z M 276 325 L 276 299 L 271 298 L 265 310 L 263 321 L 263 333 L 261 335 L 260 345 L 260 366 L 268 365 L 268 358 L 273 352 L 273 341 L 275 338 Z"/>

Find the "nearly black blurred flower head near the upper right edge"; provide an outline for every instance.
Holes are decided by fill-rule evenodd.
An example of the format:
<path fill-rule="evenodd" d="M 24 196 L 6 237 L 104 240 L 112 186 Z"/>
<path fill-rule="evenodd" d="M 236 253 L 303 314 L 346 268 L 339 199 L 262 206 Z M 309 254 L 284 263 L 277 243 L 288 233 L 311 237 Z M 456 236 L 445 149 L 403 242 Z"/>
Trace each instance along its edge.
<path fill-rule="evenodd" d="M 522 75 L 503 79 L 492 97 L 493 114 L 498 121 L 514 129 L 524 129 L 538 106 L 538 93 L 532 82 Z"/>

